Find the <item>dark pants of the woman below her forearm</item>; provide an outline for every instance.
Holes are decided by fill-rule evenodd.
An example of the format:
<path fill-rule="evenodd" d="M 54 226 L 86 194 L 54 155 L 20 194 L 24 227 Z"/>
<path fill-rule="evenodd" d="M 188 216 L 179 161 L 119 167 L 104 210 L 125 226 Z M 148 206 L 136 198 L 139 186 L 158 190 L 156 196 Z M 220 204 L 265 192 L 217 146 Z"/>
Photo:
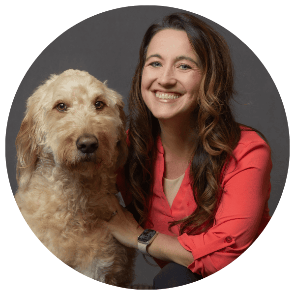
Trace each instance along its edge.
<path fill-rule="evenodd" d="M 199 274 L 193 273 L 185 266 L 174 262 L 164 266 L 153 280 L 152 289 L 168 289 L 187 285 L 203 279 Z"/>

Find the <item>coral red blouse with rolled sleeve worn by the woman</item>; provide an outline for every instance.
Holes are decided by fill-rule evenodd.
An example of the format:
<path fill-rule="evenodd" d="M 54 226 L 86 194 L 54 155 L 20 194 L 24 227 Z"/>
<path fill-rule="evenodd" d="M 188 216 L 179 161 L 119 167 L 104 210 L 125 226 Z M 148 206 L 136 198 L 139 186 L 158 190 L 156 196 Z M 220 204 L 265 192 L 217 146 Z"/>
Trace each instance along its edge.
<path fill-rule="evenodd" d="M 170 208 L 163 192 L 164 149 L 159 138 L 154 168 L 154 188 L 149 220 L 144 228 L 152 228 L 162 234 L 178 236 L 180 244 L 192 252 L 194 262 L 188 268 L 203 277 L 220 270 L 240 256 L 262 233 L 270 220 L 267 201 L 270 194 L 272 168 L 270 148 L 254 131 L 241 132 L 234 150 L 237 160 L 232 160 L 222 181 L 224 190 L 216 212 L 216 222 L 200 235 L 179 236 L 178 227 L 168 230 L 170 221 L 190 215 L 196 208 L 190 186 L 189 171 L 185 176 Z M 124 184 L 124 176 L 118 174 L 118 188 L 128 205 L 131 196 Z M 155 259 L 160 267 L 167 262 Z"/>

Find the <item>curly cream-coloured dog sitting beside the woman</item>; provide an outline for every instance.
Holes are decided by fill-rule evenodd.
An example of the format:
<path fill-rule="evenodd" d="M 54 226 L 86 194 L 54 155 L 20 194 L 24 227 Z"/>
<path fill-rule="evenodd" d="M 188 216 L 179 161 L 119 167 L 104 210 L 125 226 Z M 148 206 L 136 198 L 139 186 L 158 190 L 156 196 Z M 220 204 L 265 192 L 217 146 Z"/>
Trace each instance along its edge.
<path fill-rule="evenodd" d="M 135 250 L 102 226 L 127 157 L 122 97 L 85 71 L 51 75 L 27 101 L 16 147 L 15 200 L 32 232 L 66 265 L 126 288 Z"/>

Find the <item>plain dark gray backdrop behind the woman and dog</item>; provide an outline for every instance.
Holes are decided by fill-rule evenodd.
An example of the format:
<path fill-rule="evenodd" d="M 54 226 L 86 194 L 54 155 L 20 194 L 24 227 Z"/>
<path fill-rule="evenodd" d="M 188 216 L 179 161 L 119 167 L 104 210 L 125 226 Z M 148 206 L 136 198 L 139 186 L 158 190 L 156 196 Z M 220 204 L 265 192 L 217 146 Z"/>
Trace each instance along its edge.
<path fill-rule="evenodd" d="M 6 129 L 5 156 L 13 193 L 17 190 L 15 138 L 24 117 L 27 98 L 52 73 L 69 68 L 86 70 L 108 86 L 128 96 L 138 60 L 141 39 L 148 26 L 171 12 L 164 6 L 129 6 L 103 12 L 66 30 L 32 63 L 14 97 Z M 198 16 L 198 15 L 196 15 Z M 273 151 L 270 214 L 282 195 L 287 178 L 290 140 L 286 113 L 280 94 L 258 57 L 227 29 L 198 16 L 227 40 L 236 69 L 236 120 L 250 125 L 268 139 Z M 125 108 L 127 112 L 127 108 Z M 139 255 L 135 283 L 150 283 L 159 269 L 148 266 Z"/>

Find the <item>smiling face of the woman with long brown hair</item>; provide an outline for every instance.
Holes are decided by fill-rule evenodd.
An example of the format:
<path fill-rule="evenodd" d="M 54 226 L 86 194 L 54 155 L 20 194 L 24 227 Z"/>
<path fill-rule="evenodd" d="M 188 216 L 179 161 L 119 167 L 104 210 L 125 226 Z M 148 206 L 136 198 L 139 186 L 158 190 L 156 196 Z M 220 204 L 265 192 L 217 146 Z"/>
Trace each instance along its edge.
<path fill-rule="evenodd" d="M 148 45 L 143 69 L 143 99 L 158 119 L 189 116 L 202 78 L 198 56 L 185 31 L 164 29 Z"/>

